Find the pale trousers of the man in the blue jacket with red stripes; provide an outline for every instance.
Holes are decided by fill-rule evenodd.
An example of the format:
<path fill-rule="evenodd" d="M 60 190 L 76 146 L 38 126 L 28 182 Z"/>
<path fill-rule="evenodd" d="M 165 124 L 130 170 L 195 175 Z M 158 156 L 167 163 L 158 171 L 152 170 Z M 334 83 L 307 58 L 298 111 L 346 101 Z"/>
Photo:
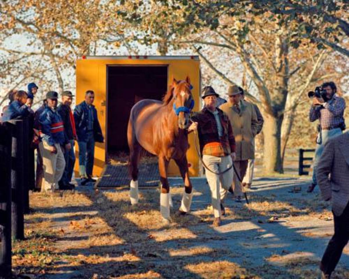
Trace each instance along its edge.
<path fill-rule="evenodd" d="M 59 189 L 58 181 L 61 179 L 65 168 L 62 149 L 59 144 L 55 144 L 54 146 L 57 149 L 56 154 L 49 150 L 50 146 L 46 141 L 43 141 L 43 144 L 39 145 L 40 154 L 43 157 L 45 191 Z"/>

